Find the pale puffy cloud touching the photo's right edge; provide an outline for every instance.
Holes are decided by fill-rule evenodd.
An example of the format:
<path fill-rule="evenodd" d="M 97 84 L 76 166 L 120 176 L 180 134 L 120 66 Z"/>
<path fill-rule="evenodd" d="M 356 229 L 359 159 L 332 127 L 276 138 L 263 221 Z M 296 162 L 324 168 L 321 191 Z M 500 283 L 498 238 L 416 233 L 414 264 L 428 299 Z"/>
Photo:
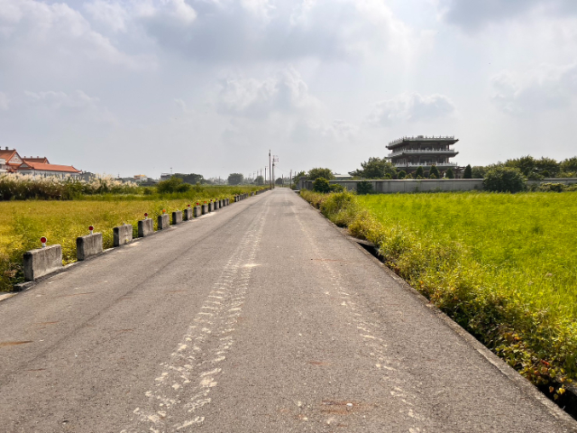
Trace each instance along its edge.
<path fill-rule="evenodd" d="M 491 78 L 491 86 L 491 100 L 509 114 L 566 107 L 577 96 L 577 63 L 543 65 L 523 73 L 504 70 Z"/>

